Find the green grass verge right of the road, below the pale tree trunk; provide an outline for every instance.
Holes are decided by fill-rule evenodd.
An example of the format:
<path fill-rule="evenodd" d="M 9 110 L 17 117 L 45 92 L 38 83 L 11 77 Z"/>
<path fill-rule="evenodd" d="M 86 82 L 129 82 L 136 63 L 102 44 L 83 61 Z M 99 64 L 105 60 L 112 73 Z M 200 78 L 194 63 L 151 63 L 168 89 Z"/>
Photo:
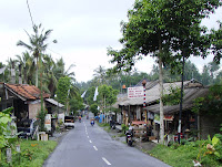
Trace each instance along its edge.
<path fill-rule="evenodd" d="M 205 156 L 204 153 L 200 152 L 203 150 L 200 147 L 202 143 L 203 140 L 195 143 L 193 142 L 185 145 L 174 144 L 170 147 L 167 147 L 164 145 L 157 145 L 152 150 L 143 150 L 143 152 L 150 154 L 151 156 L 173 167 L 194 166 L 193 160 L 196 159 L 198 157 L 201 157 L 198 160 L 201 161 L 203 167 L 222 167 L 222 164 L 220 164 L 220 161 L 213 159 L 210 156 Z"/>

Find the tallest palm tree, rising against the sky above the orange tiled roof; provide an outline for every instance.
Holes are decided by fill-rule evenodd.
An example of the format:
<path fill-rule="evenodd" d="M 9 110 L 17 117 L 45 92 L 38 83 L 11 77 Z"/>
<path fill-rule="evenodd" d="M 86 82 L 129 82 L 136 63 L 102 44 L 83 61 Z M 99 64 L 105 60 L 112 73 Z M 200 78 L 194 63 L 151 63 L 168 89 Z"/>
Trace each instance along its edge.
<path fill-rule="evenodd" d="M 22 45 L 27 48 L 36 58 L 36 67 L 37 67 L 36 86 L 38 87 L 38 70 L 39 70 L 38 64 L 39 60 L 41 59 L 42 52 L 46 51 L 48 46 L 48 44 L 46 44 L 46 41 L 49 38 L 52 30 L 48 30 L 44 32 L 44 29 L 41 30 L 41 24 L 39 24 L 39 25 L 33 25 L 33 32 L 34 34 L 31 35 L 27 32 L 30 44 L 27 44 L 23 41 L 18 41 L 17 45 Z M 56 40 L 53 42 L 57 43 Z"/>

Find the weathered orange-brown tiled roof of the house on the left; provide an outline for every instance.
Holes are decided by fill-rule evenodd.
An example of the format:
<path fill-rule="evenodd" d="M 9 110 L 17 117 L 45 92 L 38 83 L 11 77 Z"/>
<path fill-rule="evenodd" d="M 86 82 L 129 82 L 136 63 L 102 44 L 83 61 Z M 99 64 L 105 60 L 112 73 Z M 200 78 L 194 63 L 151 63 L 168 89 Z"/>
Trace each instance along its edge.
<path fill-rule="evenodd" d="M 27 84 L 4 84 L 6 87 L 14 93 L 16 95 L 22 96 L 26 100 L 40 100 L 41 91 L 33 86 Z M 43 98 L 50 97 L 50 94 L 43 93 Z"/>

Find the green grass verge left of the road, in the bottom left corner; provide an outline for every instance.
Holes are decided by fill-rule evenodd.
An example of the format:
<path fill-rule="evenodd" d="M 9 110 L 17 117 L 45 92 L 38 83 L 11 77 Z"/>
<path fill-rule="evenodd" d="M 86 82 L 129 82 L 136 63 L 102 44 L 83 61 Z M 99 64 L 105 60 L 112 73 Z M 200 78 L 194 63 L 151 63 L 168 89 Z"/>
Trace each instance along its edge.
<path fill-rule="evenodd" d="M 12 150 L 12 163 L 7 163 L 6 154 L 2 154 L 0 166 L 3 167 L 40 167 L 56 148 L 54 140 L 22 140 L 20 143 L 21 153 Z"/>

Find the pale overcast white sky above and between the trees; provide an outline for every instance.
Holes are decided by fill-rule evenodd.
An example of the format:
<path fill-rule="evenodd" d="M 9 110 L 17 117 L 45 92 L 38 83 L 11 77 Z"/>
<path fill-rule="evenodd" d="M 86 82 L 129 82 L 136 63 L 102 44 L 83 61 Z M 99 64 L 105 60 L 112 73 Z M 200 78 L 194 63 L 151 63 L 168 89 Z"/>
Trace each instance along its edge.
<path fill-rule="evenodd" d="M 54 60 L 63 58 L 65 69 L 71 64 L 78 82 L 87 82 L 93 79 L 94 70 L 99 65 L 111 67 L 107 55 L 108 48 L 121 49 L 119 39 L 121 21 L 128 21 L 127 13 L 132 9 L 134 0 L 29 0 L 32 20 L 36 24 L 42 24 L 44 30 L 52 29 L 48 39 L 48 50 Z M 32 34 L 32 22 L 29 14 L 27 0 L 0 0 L 0 61 L 16 59 L 26 51 L 17 46 L 19 40 L 29 43 L 29 34 Z M 216 28 L 216 20 L 222 18 L 222 9 L 202 23 L 209 28 Z M 57 40 L 58 43 L 52 41 Z M 205 60 L 191 59 L 199 70 L 212 61 L 212 56 Z M 149 73 L 154 60 L 144 58 L 135 64 L 140 72 Z"/>

